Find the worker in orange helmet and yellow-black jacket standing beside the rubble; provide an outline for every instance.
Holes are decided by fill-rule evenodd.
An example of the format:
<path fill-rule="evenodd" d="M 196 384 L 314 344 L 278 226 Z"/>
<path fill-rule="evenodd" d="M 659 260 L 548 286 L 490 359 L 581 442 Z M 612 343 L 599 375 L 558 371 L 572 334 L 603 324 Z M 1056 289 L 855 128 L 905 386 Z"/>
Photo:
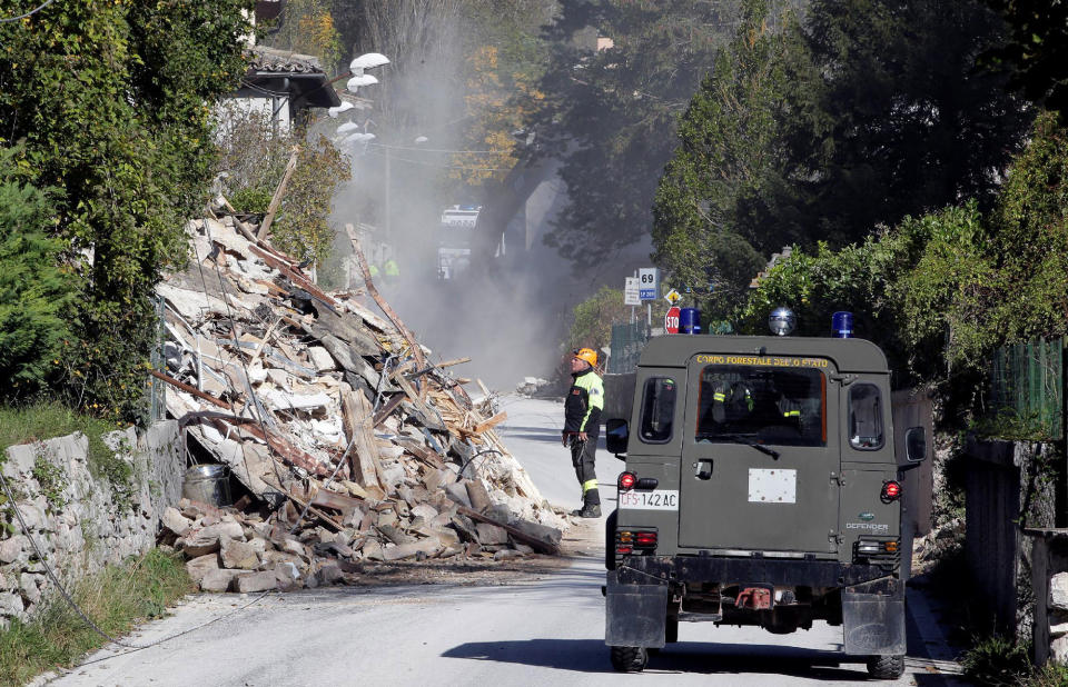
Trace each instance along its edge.
<path fill-rule="evenodd" d="M 571 464 L 582 486 L 582 508 L 572 511 L 581 518 L 601 517 L 595 456 L 604 410 L 604 382 L 594 370 L 597 352 L 592 348 L 572 351 L 572 385 L 564 400 L 563 444 L 571 447 Z"/>

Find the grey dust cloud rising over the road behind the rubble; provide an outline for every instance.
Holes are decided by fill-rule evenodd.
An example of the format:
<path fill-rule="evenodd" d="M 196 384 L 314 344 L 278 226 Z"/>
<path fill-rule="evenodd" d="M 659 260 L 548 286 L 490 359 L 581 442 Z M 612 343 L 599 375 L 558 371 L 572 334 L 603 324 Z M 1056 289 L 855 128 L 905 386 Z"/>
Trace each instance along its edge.
<path fill-rule="evenodd" d="M 544 179 L 521 198 L 520 211 L 503 237 L 486 236 L 485 222 L 475 229 L 483 232 L 481 240 L 498 245 L 494 257 L 479 258 L 473 249 L 467 269 L 441 278 L 443 211 L 505 201 L 456 180 L 453 151 L 464 148 L 471 114 L 456 83 L 463 73 L 462 41 L 447 40 L 447 28 L 441 31 L 444 38 L 432 43 L 436 47 L 432 54 L 415 60 L 387 54 L 394 61 L 376 72 L 379 84 L 359 92 L 373 101 L 369 109 L 350 110 L 318 126 L 335 140 L 345 138 L 334 131 L 348 121 L 375 135 L 369 142 L 340 146 L 352 160 L 353 178 L 334 197 L 332 223 L 338 229 L 334 258 L 343 267 L 335 269 L 342 283 L 328 286 L 363 286 L 358 270 L 344 268 L 352 247 L 343 228 L 350 222 L 359 228 L 364 252 L 379 270 L 389 258 L 396 261 L 399 277 L 380 272 L 376 286 L 433 350 L 433 359 L 471 357 L 472 362 L 454 368 L 457 376 L 510 391 L 524 377 L 554 376 L 572 308 L 604 283 L 622 287 L 624 276 L 647 262 L 650 248 L 647 242 L 636 246 L 594 271 L 574 273 L 555 249 L 543 243 L 566 199 L 554 173 L 557 163 L 548 161 Z M 472 165 L 464 159 L 462 165 Z M 485 153 L 477 159 L 482 161 L 476 165 L 497 168 L 503 156 Z"/>

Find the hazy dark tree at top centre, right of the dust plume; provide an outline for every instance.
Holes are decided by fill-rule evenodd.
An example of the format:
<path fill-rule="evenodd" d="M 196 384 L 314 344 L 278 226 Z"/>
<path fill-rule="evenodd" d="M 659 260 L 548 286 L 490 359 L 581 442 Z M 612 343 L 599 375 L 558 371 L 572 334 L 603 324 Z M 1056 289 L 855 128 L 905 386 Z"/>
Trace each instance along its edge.
<path fill-rule="evenodd" d="M 563 3 L 532 119 L 543 152 L 563 160 L 568 201 L 548 237 L 561 255 L 589 265 L 649 232 L 675 121 L 734 33 L 738 4 Z M 599 37 L 610 39 L 600 50 Z"/>

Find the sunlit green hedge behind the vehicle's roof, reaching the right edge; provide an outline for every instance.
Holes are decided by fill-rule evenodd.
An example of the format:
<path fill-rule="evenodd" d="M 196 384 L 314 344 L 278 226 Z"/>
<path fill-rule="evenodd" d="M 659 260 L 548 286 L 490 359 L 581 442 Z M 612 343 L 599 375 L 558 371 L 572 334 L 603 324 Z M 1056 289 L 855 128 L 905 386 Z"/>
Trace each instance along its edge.
<path fill-rule="evenodd" d="M 1045 113 L 992 210 L 972 200 L 841 250 L 795 250 L 735 316 L 741 331 L 758 333 L 784 305 L 799 333 L 825 336 L 831 313 L 850 310 L 899 385 L 956 381 L 953 395 L 969 397 L 995 348 L 1068 335 L 1066 283 L 1068 131 Z"/>

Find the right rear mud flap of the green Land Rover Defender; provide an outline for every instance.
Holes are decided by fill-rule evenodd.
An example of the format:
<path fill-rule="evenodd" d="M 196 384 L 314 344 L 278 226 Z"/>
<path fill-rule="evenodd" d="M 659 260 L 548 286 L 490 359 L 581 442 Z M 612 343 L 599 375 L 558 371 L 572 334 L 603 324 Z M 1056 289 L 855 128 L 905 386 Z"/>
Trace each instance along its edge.
<path fill-rule="evenodd" d="M 846 654 L 904 655 L 904 597 L 842 590 Z"/>

